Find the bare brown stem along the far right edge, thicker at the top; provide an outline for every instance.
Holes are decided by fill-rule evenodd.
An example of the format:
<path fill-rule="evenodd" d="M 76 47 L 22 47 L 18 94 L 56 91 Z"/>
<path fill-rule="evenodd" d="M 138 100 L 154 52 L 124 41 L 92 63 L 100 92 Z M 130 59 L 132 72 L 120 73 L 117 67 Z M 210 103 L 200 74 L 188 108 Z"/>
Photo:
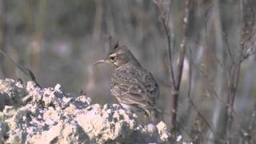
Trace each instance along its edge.
<path fill-rule="evenodd" d="M 238 58 L 232 64 L 230 70 L 230 85 L 227 95 L 227 124 L 226 124 L 226 143 L 231 142 L 231 126 L 234 117 L 234 99 L 236 96 L 236 91 L 238 89 L 238 81 L 240 77 L 241 64 L 246 58 L 254 54 L 254 37 L 255 37 L 255 15 L 254 10 L 250 6 L 250 2 L 247 0 L 240 1 L 240 20 L 242 22 L 241 27 L 241 39 L 240 48 L 238 51 Z M 252 44 L 253 43 L 253 44 Z"/>

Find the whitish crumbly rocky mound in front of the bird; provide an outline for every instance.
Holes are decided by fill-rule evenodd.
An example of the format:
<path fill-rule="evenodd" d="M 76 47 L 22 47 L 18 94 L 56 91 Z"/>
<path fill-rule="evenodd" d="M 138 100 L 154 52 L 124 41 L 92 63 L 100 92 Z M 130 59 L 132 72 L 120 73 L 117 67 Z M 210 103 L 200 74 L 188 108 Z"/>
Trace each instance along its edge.
<path fill-rule="evenodd" d="M 0 80 L 0 143 L 168 143 L 166 124 L 140 126 L 117 104 L 92 104 L 61 86 Z"/>

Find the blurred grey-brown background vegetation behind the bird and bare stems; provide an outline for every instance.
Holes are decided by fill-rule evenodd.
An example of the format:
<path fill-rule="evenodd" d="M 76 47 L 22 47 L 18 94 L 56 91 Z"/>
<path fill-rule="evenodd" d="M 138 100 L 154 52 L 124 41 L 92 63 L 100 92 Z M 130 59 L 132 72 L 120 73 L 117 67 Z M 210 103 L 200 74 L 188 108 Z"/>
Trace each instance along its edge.
<path fill-rule="evenodd" d="M 186 35 L 186 46 L 190 50 L 187 50 L 182 74 L 178 130 L 187 141 L 215 143 L 217 141 L 210 139 L 213 130 L 218 142 L 222 143 L 229 82 L 226 71 L 231 62 L 226 47 L 234 57 L 238 55 L 240 3 L 236 0 L 195 0 L 191 5 Z M 174 69 L 182 38 L 184 6 L 184 0 L 168 5 L 170 28 L 174 34 Z M 254 15 L 256 1 L 250 1 L 250 6 L 248 13 Z M 153 1 L 0 0 L 0 48 L 15 62 L 30 68 L 41 86 L 60 83 L 66 93 L 79 94 L 82 90 L 93 102 L 100 104 L 117 102 L 110 95 L 113 67 L 92 64 L 106 56 L 106 34 L 114 34 L 154 75 L 161 89 L 159 107 L 169 128 L 172 98 L 166 33 Z M 29 80 L 2 56 L 0 64 L 1 78 Z M 192 70 L 190 95 L 189 70 Z M 232 138 L 239 140 L 235 142 L 242 142 L 243 130 L 250 130 L 250 135 L 256 134 L 251 125 L 255 122 L 255 74 L 253 55 L 241 66 L 232 126 Z M 195 106 L 191 106 L 188 97 Z M 251 137 L 250 142 L 256 142 L 255 138 Z"/>

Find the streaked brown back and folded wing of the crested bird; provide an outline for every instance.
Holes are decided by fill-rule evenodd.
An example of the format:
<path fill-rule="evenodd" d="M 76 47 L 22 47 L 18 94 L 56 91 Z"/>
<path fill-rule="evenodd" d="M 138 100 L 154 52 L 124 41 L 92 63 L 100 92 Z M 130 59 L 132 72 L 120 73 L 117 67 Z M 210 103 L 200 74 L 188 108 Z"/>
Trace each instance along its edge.
<path fill-rule="evenodd" d="M 111 93 L 119 102 L 138 105 L 145 108 L 154 107 L 158 87 L 152 81 L 150 73 L 137 70 L 132 66 L 119 69 L 111 78 Z M 153 78 L 154 80 L 154 78 Z"/>

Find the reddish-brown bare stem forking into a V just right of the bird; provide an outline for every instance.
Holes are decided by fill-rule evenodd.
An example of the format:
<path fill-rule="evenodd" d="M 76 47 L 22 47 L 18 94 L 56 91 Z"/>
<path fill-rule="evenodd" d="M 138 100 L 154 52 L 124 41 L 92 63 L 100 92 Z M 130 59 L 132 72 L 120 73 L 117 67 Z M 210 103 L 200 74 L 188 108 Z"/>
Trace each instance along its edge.
<path fill-rule="evenodd" d="M 167 8 L 168 5 L 164 4 L 162 0 L 154 0 L 154 2 L 158 6 L 158 10 L 160 13 L 160 20 L 162 22 L 162 26 L 164 27 L 166 31 L 166 37 L 167 37 L 167 43 L 168 43 L 168 54 L 169 54 L 169 69 L 170 69 L 170 77 L 173 84 L 173 90 L 172 90 L 172 98 L 173 98 L 173 105 L 171 110 L 171 131 L 175 132 L 176 127 L 176 118 L 177 118 L 177 110 L 178 110 L 178 96 L 179 96 L 179 87 L 181 83 L 182 78 L 182 70 L 183 70 L 183 61 L 186 53 L 186 33 L 187 33 L 187 25 L 189 21 L 189 11 L 190 11 L 190 0 L 186 0 L 186 6 L 185 6 L 185 12 L 183 17 L 183 35 L 182 35 L 182 42 L 180 44 L 180 50 L 179 50 L 179 57 L 178 57 L 178 71 L 177 75 L 174 75 L 174 68 L 173 68 L 173 62 L 172 62 L 172 45 L 171 45 L 171 32 L 170 27 L 167 25 L 167 19 L 166 15 L 167 12 L 169 12 L 169 9 Z M 176 77 L 175 77 L 176 76 Z M 175 135 L 175 134 L 174 134 Z"/>

